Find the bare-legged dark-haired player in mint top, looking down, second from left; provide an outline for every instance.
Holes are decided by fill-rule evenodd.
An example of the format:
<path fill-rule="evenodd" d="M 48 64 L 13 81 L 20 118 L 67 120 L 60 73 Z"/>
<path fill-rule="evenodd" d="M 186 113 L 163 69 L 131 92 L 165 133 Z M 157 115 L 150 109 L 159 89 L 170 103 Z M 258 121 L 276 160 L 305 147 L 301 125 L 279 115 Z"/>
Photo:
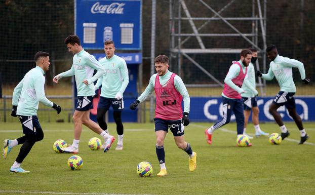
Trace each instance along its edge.
<path fill-rule="evenodd" d="M 64 152 L 78 153 L 78 145 L 82 133 L 82 124 L 90 128 L 95 133 L 104 138 L 106 152 L 115 138 L 105 131 L 100 126 L 90 119 L 90 109 L 93 108 L 92 102 L 95 95 L 93 82 L 105 73 L 104 68 L 99 64 L 93 55 L 86 52 L 80 42 L 80 38 L 76 35 L 69 35 L 64 43 L 68 51 L 74 54 L 71 69 L 56 75 L 53 79 L 55 83 L 65 76 L 75 76 L 77 89 L 77 102 L 73 113 L 74 123 L 74 139 L 69 147 L 62 148 Z M 92 77 L 94 69 L 96 74 Z"/>

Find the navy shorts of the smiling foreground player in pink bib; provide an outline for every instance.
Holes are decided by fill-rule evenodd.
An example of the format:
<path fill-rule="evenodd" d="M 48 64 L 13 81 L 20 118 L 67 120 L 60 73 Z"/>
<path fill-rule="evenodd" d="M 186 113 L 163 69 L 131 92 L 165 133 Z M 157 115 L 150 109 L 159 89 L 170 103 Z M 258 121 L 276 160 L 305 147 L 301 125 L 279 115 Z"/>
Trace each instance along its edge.
<path fill-rule="evenodd" d="M 181 120 L 171 121 L 154 118 L 155 131 L 166 131 L 168 129 L 172 131 L 174 136 L 184 135 L 184 125 L 181 123 Z"/>

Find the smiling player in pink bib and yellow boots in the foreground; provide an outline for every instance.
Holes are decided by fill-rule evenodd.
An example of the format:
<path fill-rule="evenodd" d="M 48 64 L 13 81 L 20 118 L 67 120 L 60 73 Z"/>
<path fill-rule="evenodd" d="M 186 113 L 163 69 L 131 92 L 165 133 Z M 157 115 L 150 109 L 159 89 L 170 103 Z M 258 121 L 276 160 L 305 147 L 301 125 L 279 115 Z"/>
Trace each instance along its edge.
<path fill-rule="evenodd" d="M 164 139 L 168 129 L 172 131 L 176 145 L 189 155 L 189 170 L 196 169 L 196 152 L 184 139 L 184 126 L 189 124 L 189 103 L 190 98 L 181 77 L 168 70 L 169 58 L 159 55 L 154 59 L 156 74 L 150 78 L 149 85 L 145 91 L 131 105 L 134 110 L 140 102 L 143 102 L 150 94 L 155 92 L 155 135 L 156 155 L 160 162 L 161 171 L 157 176 L 166 176 Z M 184 99 L 184 112 L 182 111 L 182 100 Z"/>

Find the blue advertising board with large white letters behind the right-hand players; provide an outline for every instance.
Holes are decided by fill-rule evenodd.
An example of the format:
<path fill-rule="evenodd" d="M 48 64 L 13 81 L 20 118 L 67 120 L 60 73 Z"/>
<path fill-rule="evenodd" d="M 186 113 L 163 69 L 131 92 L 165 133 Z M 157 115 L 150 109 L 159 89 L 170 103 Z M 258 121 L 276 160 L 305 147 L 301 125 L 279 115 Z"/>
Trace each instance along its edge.
<path fill-rule="evenodd" d="M 259 107 L 259 121 L 274 121 L 269 113 L 269 105 L 274 97 L 257 98 Z M 314 97 L 295 97 L 296 111 L 303 121 L 315 121 L 315 98 Z M 283 121 L 293 121 L 285 106 L 278 108 Z M 211 121 L 215 122 L 222 118 L 222 99 L 221 97 L 191 97 L 189 119 L 195 122 Z M 251 117 L 250 117 L 251 120 Z M 232 114 L 231 121 L 235 121 L 235 115 Z"/>

